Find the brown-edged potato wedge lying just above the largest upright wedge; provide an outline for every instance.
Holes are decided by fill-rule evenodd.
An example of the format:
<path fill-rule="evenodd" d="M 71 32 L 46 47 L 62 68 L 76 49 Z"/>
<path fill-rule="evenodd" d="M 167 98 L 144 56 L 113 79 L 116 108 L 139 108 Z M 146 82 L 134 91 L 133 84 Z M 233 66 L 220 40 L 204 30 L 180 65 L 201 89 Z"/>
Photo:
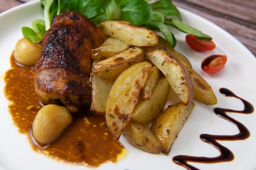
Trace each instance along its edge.
<path fill-rule="evenodd" d="M 102 79 L 114 81 L 124 70 L 141 62 L 142 59 L 143 50 L 139 47 L 131 47 L 106 60 L 95 63 L 92 67 L 92 73 Z"/>

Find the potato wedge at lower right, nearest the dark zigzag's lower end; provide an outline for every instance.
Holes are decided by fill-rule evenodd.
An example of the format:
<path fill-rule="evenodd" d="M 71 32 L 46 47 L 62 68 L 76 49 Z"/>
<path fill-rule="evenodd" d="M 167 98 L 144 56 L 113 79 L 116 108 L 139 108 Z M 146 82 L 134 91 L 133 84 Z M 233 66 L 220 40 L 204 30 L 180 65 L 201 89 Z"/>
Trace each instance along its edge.
<path fill-rule="evenodd" d="M 168 106 L 168 108 L 153 121 L 151 130 L 164 147 L 162 152 L 165 155 L 169 154 L 174 140 L 189 118 L 194 107 L 194 102 L 191 102 L 187 106 L 182 104 L 182 102 L 178 102 Z"/>

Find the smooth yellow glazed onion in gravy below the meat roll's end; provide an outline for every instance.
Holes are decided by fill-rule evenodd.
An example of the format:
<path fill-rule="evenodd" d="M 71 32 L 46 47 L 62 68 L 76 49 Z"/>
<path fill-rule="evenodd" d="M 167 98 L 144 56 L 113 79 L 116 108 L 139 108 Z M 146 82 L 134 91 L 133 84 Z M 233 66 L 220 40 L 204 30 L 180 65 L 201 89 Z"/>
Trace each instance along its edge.
<path fill-rule="evenodd" d="M 40 144 L 50 144 L 72 123 L 70 110 L 65 106 L 43 106 L 32 123 L 32 132 Z"/>

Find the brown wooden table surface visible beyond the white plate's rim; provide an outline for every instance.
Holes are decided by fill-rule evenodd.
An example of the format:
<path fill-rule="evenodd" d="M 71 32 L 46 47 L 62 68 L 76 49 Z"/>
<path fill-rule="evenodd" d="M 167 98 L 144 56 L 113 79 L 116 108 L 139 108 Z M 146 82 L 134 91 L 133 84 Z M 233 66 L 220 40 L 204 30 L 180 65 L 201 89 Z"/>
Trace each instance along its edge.
<path fill-rule="evenodd" d="M 0 0 L 0 13 L 28 1 Z M 255 0 L 173 0 L 173 4 L 222 27 L 256 56 Z"/>

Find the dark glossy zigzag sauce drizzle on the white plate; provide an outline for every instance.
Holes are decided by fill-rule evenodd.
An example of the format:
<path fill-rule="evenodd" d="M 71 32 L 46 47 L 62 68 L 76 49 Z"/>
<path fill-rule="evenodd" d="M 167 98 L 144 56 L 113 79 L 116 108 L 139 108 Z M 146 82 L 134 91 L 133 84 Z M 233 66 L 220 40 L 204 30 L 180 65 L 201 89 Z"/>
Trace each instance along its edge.
<path fill-rule="evenodd" d="M 237 99 L 240 99 L 245 108 L 244 110 L 231 110 L 231 109 L 225 109 L 225 108 L 214 108 L 214 113 L 231 123 L 235 124 L 238 129 L 239 133 L 237 135 L 209 135 L 209 134 L 202 134 L 200 135 L 200 138 L 202 141 L 207 142 L 217 148 L 220 151 L 220 156 L 208 158 L 208 157 L 193 157 L 193 156 L 186 156 L 186 155 L 178 155 L 173 157 L 173 161 L 181 166 L 184 166 L 188 170 L 199 170 L 198 168 L 195 168 L 194 166 L 191 166 L 188 162 L 197 162 L 197 163 L 218 163 L 218 162 L 226 162 L 226 161 L 232 161 L 234 159 L 234 154 L 225 146 L 222 146 L 217 141 L 235 141 L 235 140 L 244 140 L 247 139 L 250 136 L 249 130 L 241 124 L 239 121 L 236 121 L 235 119 L 229 117 L 226 112 L 231 113 L 243 113 L 243 114 L 249 114 L 254 112 L 254 107 L 252 104 L 247 102 L 246 100 L 236 96 L 234 93 L 232 93 L 227 88 L 220 88 L 220 93 L 223 95 L 226 95 L 227 97 L 236 97 Z"/>

